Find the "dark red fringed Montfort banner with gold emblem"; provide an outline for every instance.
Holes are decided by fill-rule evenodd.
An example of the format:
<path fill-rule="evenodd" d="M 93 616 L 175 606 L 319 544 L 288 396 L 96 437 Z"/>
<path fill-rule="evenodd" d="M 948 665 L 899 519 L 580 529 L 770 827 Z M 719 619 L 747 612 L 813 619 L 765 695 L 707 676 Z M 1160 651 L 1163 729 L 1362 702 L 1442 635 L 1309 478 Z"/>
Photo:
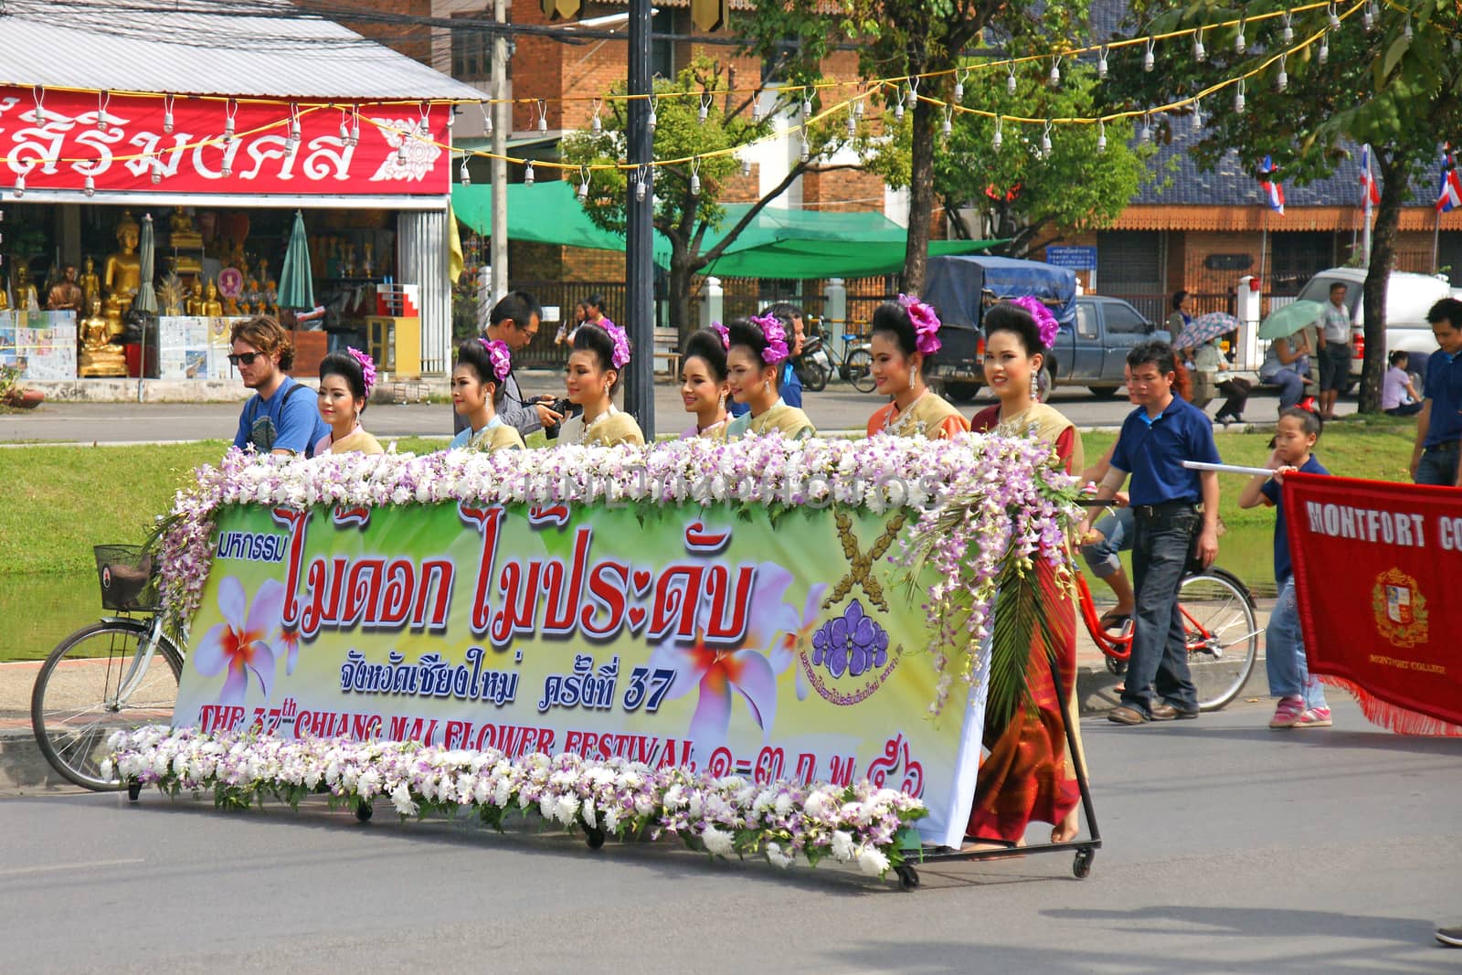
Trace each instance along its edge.
<path fill-rule="evenodd" d="M 1284 504 L 1310 671 L 1376 724 L 1462 734 L 1462 491 L 1292 474 Z"/>

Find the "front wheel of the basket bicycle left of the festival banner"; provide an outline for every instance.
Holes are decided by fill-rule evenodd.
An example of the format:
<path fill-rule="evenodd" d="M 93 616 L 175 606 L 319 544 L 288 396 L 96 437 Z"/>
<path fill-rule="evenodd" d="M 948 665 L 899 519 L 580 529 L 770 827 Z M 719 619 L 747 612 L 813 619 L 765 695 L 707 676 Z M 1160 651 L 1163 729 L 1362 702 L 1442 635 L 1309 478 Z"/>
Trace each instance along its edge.
<path fill-rule="evenodd" d="M 41 754 L 76 785 L 105 791 L 121 785 L 102 776 L 114 731 L 165 722 L 178 699 L 183 656 L 165 637 L 142 669 L 152 627 L 140 620 L 104 620 L 66 637 L 41 665 L 31 691 L 31 724 Z"/>

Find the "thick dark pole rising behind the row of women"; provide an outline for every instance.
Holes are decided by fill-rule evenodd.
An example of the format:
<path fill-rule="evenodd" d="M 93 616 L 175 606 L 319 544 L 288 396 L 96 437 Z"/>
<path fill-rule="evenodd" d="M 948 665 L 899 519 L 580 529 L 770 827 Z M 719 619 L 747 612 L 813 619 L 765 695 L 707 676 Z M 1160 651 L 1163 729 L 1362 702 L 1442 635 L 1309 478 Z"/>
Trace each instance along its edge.
<path fill-rule="evenodd" d="M 503 0 L 497 0 L 501 3 Z M 635 348 L 624 386 L 624 409 L 633 414 L 646 443 L 655 441 L 655 184 L 651 162 L 655 133 L 649 127 L 651 0 L 630 0 L 629 42 L 629 162 L 636 167 L 626 184 L 624 317 Z"/>

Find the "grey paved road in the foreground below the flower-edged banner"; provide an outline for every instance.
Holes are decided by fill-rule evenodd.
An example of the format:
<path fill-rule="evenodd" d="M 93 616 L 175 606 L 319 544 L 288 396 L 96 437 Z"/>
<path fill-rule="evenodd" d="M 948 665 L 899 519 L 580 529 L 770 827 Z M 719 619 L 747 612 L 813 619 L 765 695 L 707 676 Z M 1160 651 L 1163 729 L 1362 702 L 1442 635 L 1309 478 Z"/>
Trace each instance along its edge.
<path fill-rule="evenodd" d="M 1462 741 L 1268 707 L 1085 726 L 1105 848 L 924 871 L 588 852 L 522 830 L 148 794 L 0 801 L 13 972 L 1446 972 L 1462 921 Z"/>

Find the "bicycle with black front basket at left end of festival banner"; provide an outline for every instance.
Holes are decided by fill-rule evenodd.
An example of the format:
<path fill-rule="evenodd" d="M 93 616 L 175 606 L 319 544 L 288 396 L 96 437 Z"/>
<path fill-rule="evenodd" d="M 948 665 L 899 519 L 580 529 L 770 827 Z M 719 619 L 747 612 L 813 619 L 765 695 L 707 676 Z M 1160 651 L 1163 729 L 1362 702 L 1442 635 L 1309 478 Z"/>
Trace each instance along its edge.
<path fill-rule="evenodd" d="M 31 690 L 41 754 L 88 789 L 121 788 L 104 776 L 114 731 L 167 721 L 177 703 L 183 652 L 162 631 L 152 558 L 140 545 L 96 545 L 102 608 L 117 615 L 76 630 L 50 652 Z M 167 668 L 152 667 L 162 656 Z"/>

